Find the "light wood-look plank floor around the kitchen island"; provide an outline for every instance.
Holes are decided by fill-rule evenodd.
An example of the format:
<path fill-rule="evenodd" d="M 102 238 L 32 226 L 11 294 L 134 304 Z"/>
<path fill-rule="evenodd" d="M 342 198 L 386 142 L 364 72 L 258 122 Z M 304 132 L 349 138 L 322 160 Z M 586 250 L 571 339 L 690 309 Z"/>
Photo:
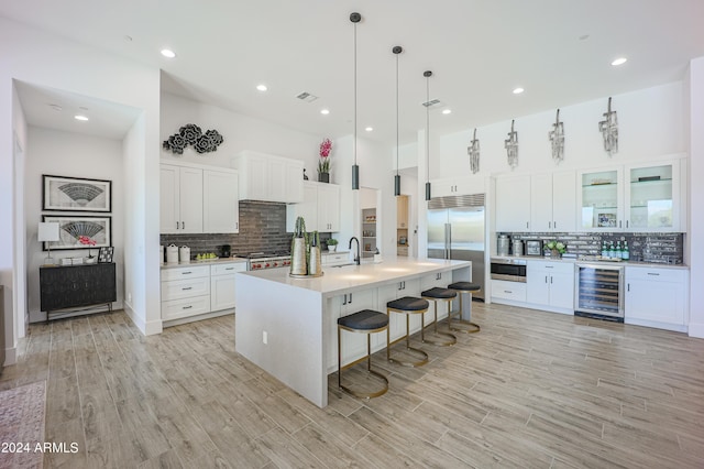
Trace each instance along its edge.
<path fill-rule="evenodd" d="M 152 337 L 122 312 L 33 325 L 0 389 L 47 380 L 46 439 L 79 451 L 45 467 L 704 467 L 704 340 L 477 303 L 474 320 L 419 345 L 422 368 L 377 353 L 382 397 L 331 375 L 324 410 L 234 352 L 232 316 Z"/>

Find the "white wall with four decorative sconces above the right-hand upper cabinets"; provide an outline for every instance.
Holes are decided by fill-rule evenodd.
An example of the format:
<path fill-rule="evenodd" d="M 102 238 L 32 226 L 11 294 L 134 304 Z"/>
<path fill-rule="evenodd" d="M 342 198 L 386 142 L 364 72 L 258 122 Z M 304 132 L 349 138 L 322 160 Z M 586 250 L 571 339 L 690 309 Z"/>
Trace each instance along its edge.
<path fill-rule="evenodd" d="M 604 151 L 598 131 L 608 97 L 560 108 L 565 144 L 564 161 L 559 166 L 552 161 L 548 140 L 556 110 L 516 117 L 518 166 L 514 173 L 623 164 L 685 152 L 683 86 L 682 81 L 676 81 L 614 96 L 612 110 L 618 116 L 618 153 L 612 157 Z M 431 179 L 472 174 L 466 148 L 473 131 L 468 129 L 438 139 L 432 139 L 431 132 Z M 477 128 L 476 137 L 481 144 L 477 176 L 512 171 L 504 149 L 509 131 L 510 120 Z M 433 151 L 433 148 L 439 151 Z"/>

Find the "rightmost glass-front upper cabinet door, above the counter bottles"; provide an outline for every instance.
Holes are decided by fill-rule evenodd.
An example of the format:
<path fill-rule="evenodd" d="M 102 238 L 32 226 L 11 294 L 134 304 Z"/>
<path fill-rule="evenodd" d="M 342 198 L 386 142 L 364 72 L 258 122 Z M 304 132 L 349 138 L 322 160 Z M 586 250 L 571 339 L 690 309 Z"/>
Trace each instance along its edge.
<path fill-rule="evenodd" d="M 626 228 L 678 231 L 680 227 L 679 161 L 626 168 Z"/>

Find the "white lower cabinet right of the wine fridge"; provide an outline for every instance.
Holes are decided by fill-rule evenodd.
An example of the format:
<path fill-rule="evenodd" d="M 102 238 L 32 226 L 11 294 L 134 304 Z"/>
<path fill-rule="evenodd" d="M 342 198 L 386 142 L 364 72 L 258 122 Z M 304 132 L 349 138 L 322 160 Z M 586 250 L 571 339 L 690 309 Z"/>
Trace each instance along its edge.
<path fill-rule="evenodd" d="M 683 269 L 626 268 L 625 321 L 686 331 L 686 283 Z"/>

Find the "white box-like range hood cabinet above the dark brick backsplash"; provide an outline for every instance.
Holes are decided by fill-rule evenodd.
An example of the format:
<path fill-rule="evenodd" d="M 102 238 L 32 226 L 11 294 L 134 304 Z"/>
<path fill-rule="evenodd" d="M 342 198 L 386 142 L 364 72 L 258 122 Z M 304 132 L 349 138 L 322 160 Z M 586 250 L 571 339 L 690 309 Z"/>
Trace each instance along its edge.
<path fill-rule="evenodd" d="M 295 204 L 302 201 L 304 163 L 256 152 L 233 160 L 240 171 L 240 199 Z"/>

